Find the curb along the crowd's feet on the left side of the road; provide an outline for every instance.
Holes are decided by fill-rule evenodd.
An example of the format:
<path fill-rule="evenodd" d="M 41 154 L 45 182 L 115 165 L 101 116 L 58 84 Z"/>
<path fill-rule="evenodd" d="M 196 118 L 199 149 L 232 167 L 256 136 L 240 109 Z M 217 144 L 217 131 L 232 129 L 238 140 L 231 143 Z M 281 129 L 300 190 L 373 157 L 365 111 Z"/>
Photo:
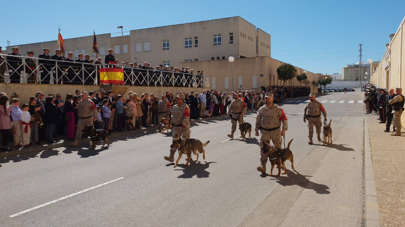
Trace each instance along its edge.
<path fill-rule="evenodd" d="M 225 118 L 225 117 L 226 116 L 222 115 L 222 116 L 215 116 L 215 117 L 209 117 L 209 118 L 200 118 L 198 120 L 190 120 L 190 123 L 215 120 L 217 118 Z M 135 133 L 139 133 L 139 132 L 156 131 L 156 130 L 158 130 L 158 126 L 150 126 L 149 128 L 142 128 L 142 129 L 131 130 L 131 131 L 113 132 L 109 136 L 109 138 L 126 136 L 126 135 L 131 135 L 131 134 L 135 134 Z M 79 139 L 79 144 L 88 143 L 88 142 L 91 142 L 90 138 Z M 53 148 L 58 148 L 58 147 L 68 147 L 68 146 L 70 146 L 69 145 L 70 143 L 72 143 L 72 141 L 59 141 L 58 143 L 53 143 L 53 144 L 45 144 L 45 145 L 41 145 L 41 146 L 26 147 L 26 148 L 20 148 L 19 150 L 1 152 L 0 158 L 16 156 L 16 155 L 20 155 L 20 154 L 24 154 L 24 153 L 40 152 L 40 151 L 44 151 L 47 149 L 53 149 Z"/>

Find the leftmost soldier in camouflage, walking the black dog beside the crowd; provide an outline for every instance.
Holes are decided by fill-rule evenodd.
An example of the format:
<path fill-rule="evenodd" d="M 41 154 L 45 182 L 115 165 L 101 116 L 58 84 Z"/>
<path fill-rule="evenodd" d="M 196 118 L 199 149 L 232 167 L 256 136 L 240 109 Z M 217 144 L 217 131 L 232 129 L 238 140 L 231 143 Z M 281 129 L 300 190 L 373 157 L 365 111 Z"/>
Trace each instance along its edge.
<path fill-rule="evenodd" d="M 73 147 L 77 147 L 81 135 L 83 135 L 82 130 L 87 126 L 93 126 L 93 122 L 97 120 L 97 108 L 91 99 L 88 99 L 87 92 L 83 91 L 81 94 L 81 101 L 77 107 L 77 116 L 79 116 L 79 121 L 77 122 L 77 130 L 75 142 L 71 143 Z"/>

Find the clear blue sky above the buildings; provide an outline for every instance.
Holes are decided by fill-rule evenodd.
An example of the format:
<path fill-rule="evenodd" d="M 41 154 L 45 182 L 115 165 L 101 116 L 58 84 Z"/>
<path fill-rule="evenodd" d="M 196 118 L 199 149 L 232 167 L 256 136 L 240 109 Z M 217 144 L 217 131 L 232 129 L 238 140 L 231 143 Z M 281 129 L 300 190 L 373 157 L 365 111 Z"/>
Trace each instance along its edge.
<path fill-rule="evenodd" d="M 240 16 L 271 35 L 273 58 L 324 74 L 356 63 L 360 43 L 363 61 L 381 59 L 388 35 L 405 16 L 404 0 L 24 0 L 1 5 L 0 46 L 6 40 L 11 46 L 56 40 L 58 24 L 66 39 L 90 36 L 93 29 L 96 34 L 120 32 L 118 25 L 129 31 Z"/>

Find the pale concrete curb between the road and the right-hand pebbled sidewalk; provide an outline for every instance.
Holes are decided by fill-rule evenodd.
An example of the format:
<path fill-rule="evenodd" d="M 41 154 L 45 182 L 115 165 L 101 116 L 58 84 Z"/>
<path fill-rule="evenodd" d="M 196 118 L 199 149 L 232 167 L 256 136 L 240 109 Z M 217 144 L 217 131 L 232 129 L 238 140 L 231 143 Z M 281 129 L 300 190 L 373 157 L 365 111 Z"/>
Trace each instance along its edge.
<path fill-rule="evenodd" d="M 364 118 L 364 226 L 380 226 L 367 118 Z"/>

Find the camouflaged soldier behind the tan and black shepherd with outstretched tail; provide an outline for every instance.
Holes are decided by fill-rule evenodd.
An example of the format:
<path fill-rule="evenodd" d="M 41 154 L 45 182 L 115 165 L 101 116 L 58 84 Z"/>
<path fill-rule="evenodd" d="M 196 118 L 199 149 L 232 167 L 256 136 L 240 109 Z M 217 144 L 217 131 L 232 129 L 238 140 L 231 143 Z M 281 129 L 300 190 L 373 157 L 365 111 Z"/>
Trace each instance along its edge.
<path fill-rule="evenodd" d="M 176 98 L 177 104 L 172 108 L 173 139 L 176 136 L 190 139 L 190 109 L 184 103 L 183 94 L 177 95 Z M 177 147 L 172 147 L 170 149 L 170 156 L 164 156 L 164 159 L 173 162 L 176 150 Z"/>

